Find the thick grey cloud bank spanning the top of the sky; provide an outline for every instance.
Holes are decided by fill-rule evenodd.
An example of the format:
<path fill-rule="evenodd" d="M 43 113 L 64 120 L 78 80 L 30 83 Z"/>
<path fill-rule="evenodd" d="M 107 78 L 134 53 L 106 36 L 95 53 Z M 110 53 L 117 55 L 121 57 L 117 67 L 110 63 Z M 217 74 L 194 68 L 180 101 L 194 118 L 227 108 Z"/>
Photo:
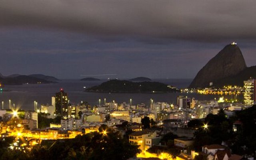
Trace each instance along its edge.
<path fill-rule="evenodd" d="M 223 0 L 2 0 L 0 26 L 56 28 L 110 36 L 111 40 L 120 35 L 197 41 L 255 39 L 255 6 L 256 1 Z"/>

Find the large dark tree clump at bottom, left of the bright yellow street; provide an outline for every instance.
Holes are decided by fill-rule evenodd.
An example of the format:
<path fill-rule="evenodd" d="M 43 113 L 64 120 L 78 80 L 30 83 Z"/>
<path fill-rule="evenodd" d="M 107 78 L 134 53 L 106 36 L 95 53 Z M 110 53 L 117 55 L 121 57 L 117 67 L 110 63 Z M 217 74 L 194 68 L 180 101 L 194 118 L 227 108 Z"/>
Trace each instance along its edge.
<path fill-rule="evenodd" d="M 30 159 L 126 160 L 140 153 L 138 146 L 130 144 L 119 132 L 105 125 L 100 126 L 99 130 L 108 132 L 92 132 L 74 139 L 51 141 L 50 144 L 46 143 L 49 140 L 45 140 L 32 149 Z"/>

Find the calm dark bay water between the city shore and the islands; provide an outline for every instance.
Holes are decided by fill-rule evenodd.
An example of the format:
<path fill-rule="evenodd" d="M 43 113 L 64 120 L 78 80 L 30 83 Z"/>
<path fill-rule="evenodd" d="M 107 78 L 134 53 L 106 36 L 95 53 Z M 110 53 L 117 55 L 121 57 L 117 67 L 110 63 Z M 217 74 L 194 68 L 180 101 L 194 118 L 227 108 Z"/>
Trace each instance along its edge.
<path fill-rule="evenodd" d="M 189 86 L 192 79 L 156 79 L 154 81 L 170 84 L 178 88 L 186 88 Z M 60 88 L 68 93 L 70 103 L 78 104 L 81 100 L 87 101 L 90 104 L 98 104 L 98 99 L 104 102 L 115 100 L 118 103 L 130 102 L 132 104 L 146 103 L 150 104 L 150 98 L 155 102 L 170 102 L 176 104 L 177 96 L 184 95 L 190 98 L 194 97 L 198 100 L 212 100 L 219 98 L 220 95 L 200 95 L 191 93 L 92 93 L 84 92 L 86 88 L 101 84 L 104 81 L 80 81 L 80 80 L 61 80 L 56 84 L 24 84 L 20 86 L 5 86 L 4 90 L 10 90 L 0 93 L 0 102 L 4 101 L 4 108 L 9 108 L 9 99 L 11 104 L 15 103 L 16 107 L 21 107 L 25 110 L 32 110 L 34 108 L 34 100 L 41 104 L 51 104 L 51 97 L 55 95 Z M 226 96 L 226 98 L 230 98 Z M 2 108 L 2 104 L 0 105 Z"/>

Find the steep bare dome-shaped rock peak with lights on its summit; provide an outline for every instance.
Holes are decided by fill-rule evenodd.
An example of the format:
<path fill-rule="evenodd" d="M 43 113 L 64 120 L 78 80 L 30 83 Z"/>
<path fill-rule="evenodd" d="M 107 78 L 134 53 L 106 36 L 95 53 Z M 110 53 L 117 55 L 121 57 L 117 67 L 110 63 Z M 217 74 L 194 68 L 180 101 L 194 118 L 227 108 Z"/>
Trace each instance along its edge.
<path fill-rule="evenodd" d="M 189 87 L 209 86 L 210 82 L 236 75 L 245 68 L 240 48 L 235 43 L 228 44 L 198 72 Z"/>

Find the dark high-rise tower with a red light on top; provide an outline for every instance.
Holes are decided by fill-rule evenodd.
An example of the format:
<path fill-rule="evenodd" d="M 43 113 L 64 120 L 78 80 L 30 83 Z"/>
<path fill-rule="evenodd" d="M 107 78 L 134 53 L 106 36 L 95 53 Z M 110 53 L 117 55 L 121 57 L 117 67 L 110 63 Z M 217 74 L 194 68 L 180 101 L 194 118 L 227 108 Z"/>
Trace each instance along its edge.
<path fill-rule="evenodd" d="M 68 94 L 62 88 L 55 96 L 55 114 L 62 118 L 68 117 Z"/>

